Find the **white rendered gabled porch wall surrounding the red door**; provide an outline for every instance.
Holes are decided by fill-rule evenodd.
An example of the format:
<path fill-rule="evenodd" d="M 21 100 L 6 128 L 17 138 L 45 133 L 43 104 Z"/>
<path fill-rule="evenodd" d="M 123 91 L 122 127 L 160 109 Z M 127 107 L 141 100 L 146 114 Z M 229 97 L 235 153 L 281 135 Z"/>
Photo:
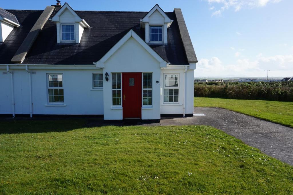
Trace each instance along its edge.
<path fill-rule="evenodd" d="M 134 38 L 127 40 L 105 63 L 103 74 L 109 73 L 109 81 L 104 81 L 104 119 L 121 120 L 123 110 L 112 107 L 112 75 L 122 72 L 151 72 L 152 108 L 142 109 L 142 119 L 160 119 L 160 63 L 147 52 Z M 122 100 L 123 103 L 123 100 Z M 117 109 L 117 108 L 116 108 Z M 119 108 L 118 108 L 119 109 Z"/>

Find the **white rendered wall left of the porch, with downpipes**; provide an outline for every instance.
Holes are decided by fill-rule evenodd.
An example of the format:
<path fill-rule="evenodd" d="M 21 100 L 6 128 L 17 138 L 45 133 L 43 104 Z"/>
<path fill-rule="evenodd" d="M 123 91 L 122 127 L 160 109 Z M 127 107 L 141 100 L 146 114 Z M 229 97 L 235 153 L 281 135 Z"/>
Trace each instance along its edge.
<path fill-rule="evenodd" d="M 0 69 L 0 114 L 12 114 L 10 73 L 3 75 Z M 29 114 L 29 74 L 24 69 L 12 69 L 16 114 Z M 45 70 L 33 69 L 32 97 L 33 114 L 103 114 L 103 90 L 92 90 L 92 73 L 102 70 Z M 47 73 L 62 73 L 64 104 L 47 106 Z M 6 83 L 3 85 L 3 83 Z"/>

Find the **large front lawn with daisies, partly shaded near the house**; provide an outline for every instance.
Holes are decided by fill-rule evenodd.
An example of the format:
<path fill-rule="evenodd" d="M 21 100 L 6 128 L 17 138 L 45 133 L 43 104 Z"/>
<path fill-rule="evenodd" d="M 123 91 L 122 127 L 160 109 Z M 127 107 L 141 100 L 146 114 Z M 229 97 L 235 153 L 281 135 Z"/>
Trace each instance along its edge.
<path fill-rule="evenodd" d="M 293 167 L 209 126 L 0 121 L 0 194 L 292 194 Z"/>

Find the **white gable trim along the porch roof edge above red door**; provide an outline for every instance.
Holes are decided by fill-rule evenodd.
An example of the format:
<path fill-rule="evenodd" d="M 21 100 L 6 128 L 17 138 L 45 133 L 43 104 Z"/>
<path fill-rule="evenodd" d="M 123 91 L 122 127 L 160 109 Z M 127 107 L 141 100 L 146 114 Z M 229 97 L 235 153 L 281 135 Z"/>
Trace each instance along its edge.
<path fill-rule="evenodd" d="M 104 63 L 107 61 L 130 37 L 133 37 L 149 54 L 151 54 L 159 63 L 160 67 L 166 67 L 167 62 L 163 60 L 149 45 L 142 40 L 132 29 L 124 35 L 99 61 L 96 62 L 97 68 L 104 68 Z"/>

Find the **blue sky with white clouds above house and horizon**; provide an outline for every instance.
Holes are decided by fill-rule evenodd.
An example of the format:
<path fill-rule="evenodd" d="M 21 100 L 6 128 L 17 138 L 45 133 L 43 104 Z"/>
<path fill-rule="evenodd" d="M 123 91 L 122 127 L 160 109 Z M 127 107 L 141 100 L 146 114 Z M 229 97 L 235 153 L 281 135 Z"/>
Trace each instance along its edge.
<path fill-rule="evenodd" d="M 56 1 L 2 1 L 4 9 L 44 9 Z M 65 1 L 61 1 L 62 4 Z M 293 76 L 293 0 L 68 0 L 74 10 L 181 8 L 199 63 L 195 77 Z M 281 70 L 280 70 L 281 69 Z"/>

